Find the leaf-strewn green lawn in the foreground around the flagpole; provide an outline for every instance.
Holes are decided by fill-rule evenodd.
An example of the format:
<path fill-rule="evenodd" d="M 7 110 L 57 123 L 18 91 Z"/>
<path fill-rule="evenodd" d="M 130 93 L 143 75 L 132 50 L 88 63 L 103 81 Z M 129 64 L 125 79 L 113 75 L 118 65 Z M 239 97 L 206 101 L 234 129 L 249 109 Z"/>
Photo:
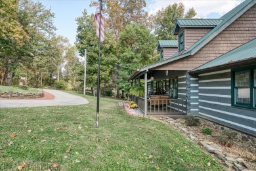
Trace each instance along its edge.
<path fill-rule="evenodd" d="M 0 170 L 224 170 L 166 124 L 126 115 L 117 100 L 2 108 Z M 14 134 L 12 134 L 14 133 Z"/>

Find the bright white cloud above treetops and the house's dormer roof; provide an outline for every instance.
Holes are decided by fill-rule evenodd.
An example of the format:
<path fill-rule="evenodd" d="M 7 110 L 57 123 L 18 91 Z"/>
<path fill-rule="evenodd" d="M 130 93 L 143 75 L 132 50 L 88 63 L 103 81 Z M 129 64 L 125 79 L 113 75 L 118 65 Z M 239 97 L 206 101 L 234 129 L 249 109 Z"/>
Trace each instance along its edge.
<path fill-rule="evenodd" d="M 167 7 L 167 5 L 173 5 L 173 3 L 183 3 L 185 6 L 185 12 L 188 9 L 194 7 L 197 12 L 197 17 L 200 18 L 209 18 L 212 16 L 211 14 L 215 14 L 215 16 L 223 16 L 226 12 L 234 9 L 237 5 L 242 3 L 243 0 L 148 0 L 147 9 L 150 14 L 155 14 L 158 10 Z"/>

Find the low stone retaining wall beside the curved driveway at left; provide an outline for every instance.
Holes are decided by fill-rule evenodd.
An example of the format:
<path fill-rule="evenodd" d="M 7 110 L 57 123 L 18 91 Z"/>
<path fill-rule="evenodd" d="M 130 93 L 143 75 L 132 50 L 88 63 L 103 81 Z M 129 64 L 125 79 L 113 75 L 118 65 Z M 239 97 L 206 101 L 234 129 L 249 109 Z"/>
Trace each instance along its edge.
<path fill-rule="evenodd" d="M 43 90 L 39 90 L 39 92 L 30 92 L 30 93 L 22 93 L 22 92 L 0 92 L 0 98 L 20 98 L 20 99 L 28 99 L 28 98 L 42 98 L 44 96 Z"/>

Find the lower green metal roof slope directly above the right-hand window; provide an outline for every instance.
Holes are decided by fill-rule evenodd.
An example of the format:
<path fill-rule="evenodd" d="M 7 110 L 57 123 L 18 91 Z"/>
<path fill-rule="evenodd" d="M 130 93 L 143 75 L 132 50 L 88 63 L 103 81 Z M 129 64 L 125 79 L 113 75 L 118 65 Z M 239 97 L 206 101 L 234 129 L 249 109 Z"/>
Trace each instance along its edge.
<path fill-rule="evenodd" d="M 211 60 L 210 62 L 207 62 L 206 64 L 203 64 L 200 67 L 192 69 L 192 71 L 206 69 L 209 67 L 222 66 L 224 64 L 239 62 L 242 60 L 247 60 L 249 58 L 256 58 L 256 46 L 255 45 L 256 45 L 256 39 L 253 39 L 253 40 L 249 41 L 248 43 L 245 43 L 244 45 L 242 45 L 238 48 L 235 48 L 234 50 L 231 50 L 231 51 L 227 52 L 226 54 L 223 54 L 222 56 L 219 56 L 218 58 Z"/>

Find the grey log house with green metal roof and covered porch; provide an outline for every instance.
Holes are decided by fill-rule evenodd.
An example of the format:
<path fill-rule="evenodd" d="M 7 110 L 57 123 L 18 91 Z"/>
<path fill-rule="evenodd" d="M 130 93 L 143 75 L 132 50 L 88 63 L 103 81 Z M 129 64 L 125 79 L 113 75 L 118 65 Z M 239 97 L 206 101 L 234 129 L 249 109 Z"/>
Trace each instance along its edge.
<path fill-rule="evenodd" d="M 133 96 L 144 115 L 198 115 L 256 136 L 255 4 L 218 19 L 177 19 L 177 52 L 129 77 L 144 79 L 145 96 Z M 150 94 L 168 94 L 169 105 L 150 105 Z"/>

